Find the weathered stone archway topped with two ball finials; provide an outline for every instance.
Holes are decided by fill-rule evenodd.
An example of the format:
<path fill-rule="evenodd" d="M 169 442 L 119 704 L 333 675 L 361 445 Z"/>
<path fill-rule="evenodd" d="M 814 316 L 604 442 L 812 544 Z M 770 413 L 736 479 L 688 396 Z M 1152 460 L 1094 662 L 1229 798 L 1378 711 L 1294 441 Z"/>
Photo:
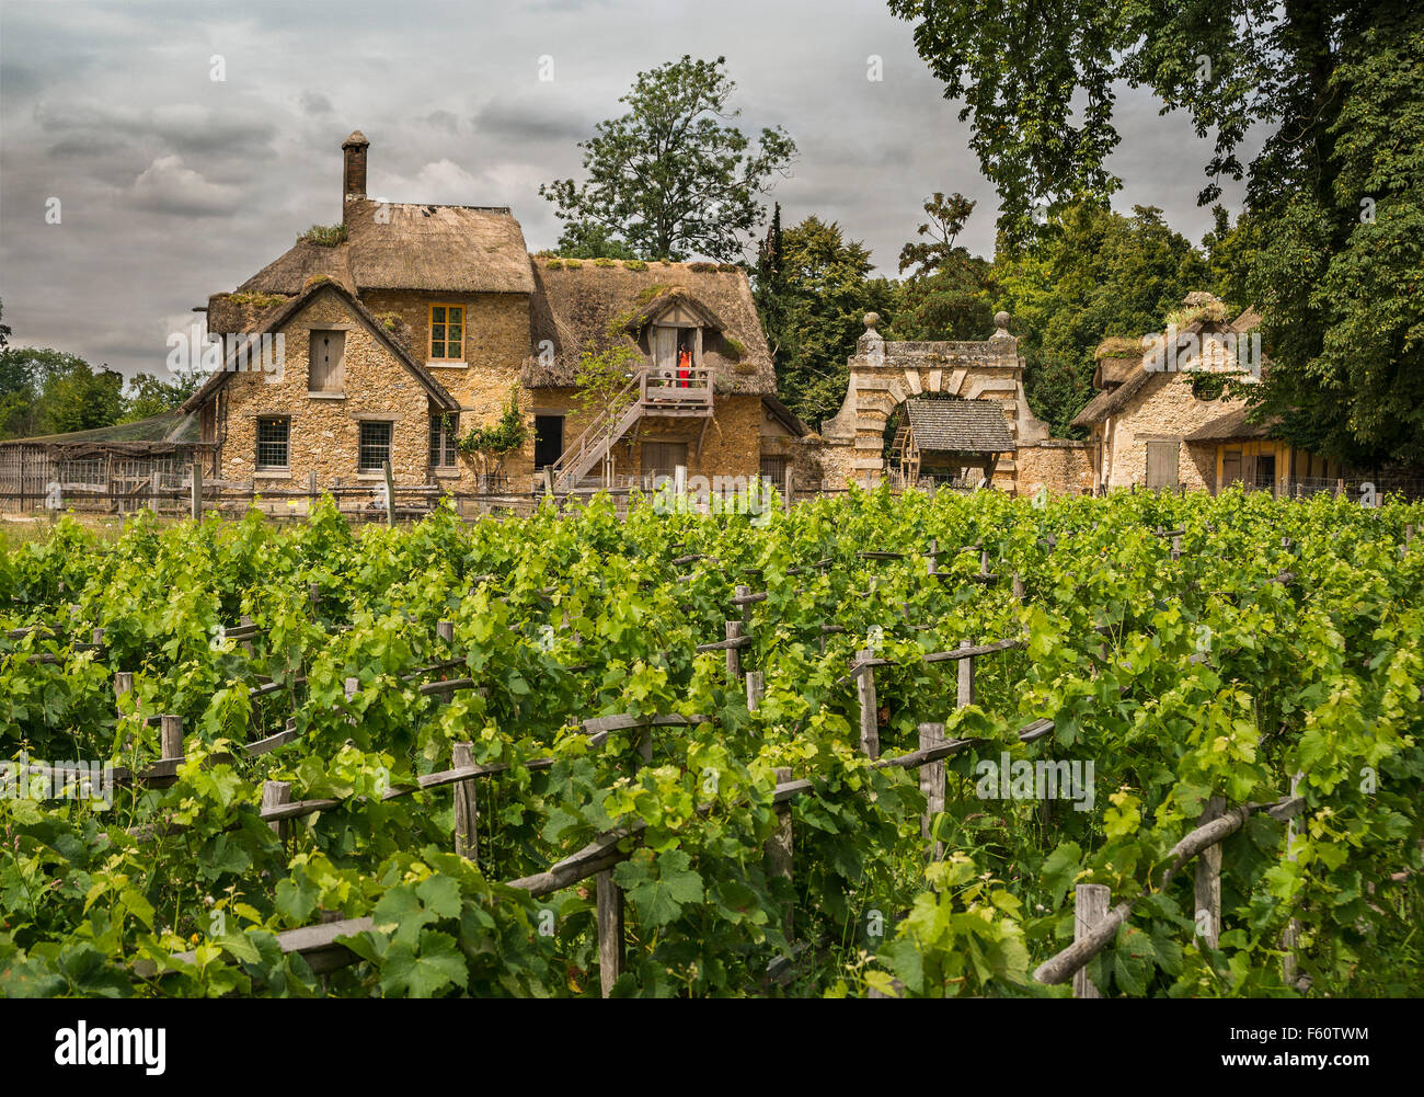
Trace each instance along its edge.
<path fill-rule="evenodd" d="M 965 400 L 997 400 L 1004 407 L 1010 435 L 1018 444 L 1048 437 L 1024 396 L 1024 359 L 1018 339 L 1008 333 L 1010 316 L 994 316 L 997 331 L 984 340 L 886 342 L 876 331 L 880 316 L 866 313 L 866 333 L 847 360 L 850 383 L 834 419 L 822 423 L 827 474 L 846 483 L 874 486 L 884 477 L 883 435 L 890 415 L 921 392 L 947 393 Z M 994 486 L 1012 490 L 1017 462 L 998 462 Z"/>

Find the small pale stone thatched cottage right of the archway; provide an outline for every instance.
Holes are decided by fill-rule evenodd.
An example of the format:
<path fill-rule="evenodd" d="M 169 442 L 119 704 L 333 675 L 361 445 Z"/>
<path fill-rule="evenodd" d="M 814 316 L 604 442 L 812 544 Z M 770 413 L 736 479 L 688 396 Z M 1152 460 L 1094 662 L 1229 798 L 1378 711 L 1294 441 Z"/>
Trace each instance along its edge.
<path fill-rule="evenodd" d="M 1189 293 L 1183 312 L 1165 335 L 1114 338 L 1098 348 L 1096 396 L 1074 426 L 1087 427 L 1089 456 L 1099 486 L 1186 487 L 1219 492 L 1232 483 L 1247 489 L 1290 492 L 1309 479 L 1341 476 L 1326 462 L 1273 436 L 1274 423 L 1247 423 L 1246 402 L 1225 380 L 1252 380 L 1237 348 L 1260 325 L 1247 309 L 1226 322 L 1225 305 L 1210 293 Z M 1256 343 L 1259 346 L 1259 343 Z"/>

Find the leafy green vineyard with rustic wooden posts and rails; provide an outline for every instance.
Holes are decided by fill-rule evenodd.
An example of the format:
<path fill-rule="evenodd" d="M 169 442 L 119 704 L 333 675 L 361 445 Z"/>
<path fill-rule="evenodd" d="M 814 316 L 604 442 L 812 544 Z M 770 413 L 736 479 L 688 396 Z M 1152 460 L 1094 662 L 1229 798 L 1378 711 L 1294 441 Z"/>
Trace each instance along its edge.
<path fill-rule="evenodd" d="M 1424 993 L 1424 504 L 665 511 L 0 554 L 0 994 Z"/>

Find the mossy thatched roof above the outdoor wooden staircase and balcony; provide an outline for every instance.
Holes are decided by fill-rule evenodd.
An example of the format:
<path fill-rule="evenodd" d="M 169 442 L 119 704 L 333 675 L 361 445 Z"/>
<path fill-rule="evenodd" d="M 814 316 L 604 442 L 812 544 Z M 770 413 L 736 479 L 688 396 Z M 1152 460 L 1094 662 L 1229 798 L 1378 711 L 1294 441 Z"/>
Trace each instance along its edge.
<path fill-rule="evenodd" d="M 637 336 L 649 321 L 674 305 L 685 305 L 706 319 L 702 355 L 716 370 L 716 390 L 775 396 L 776 370 L 752 301 L 752 286 L 740 268 L 712 264 L 530 261 L 534 296 L 530 326 L 535 352 L 520 379 L 530 388 L 570 388 L 584 350 L 614 345 L 638 349 Z M 644 269 L 638 269 L 644 268 Z M 554 346 L 553 362 L 538 355 L 544 340 Z"/>

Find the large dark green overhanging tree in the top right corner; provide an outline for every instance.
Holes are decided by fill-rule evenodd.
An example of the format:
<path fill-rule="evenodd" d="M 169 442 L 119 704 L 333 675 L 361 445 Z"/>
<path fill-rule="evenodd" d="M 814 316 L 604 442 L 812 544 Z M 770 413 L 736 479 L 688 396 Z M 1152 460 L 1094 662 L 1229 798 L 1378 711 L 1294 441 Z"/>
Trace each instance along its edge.
<path fill-rule="evenodd" d="M 1424 454 L 1424 10 L 1410 0 L 889 0 L 1021 245 L 1121 181 L 1114 88 L 1151 88 L 1215 148 L 1199 199 L 1246 180 L 1247 286 L 1286 432 L 1330 456 Z M 1260 151 L 1243 162 L 1256 130 Z M 1255 140 L 1255 134 L 1253 134 Z"/>

